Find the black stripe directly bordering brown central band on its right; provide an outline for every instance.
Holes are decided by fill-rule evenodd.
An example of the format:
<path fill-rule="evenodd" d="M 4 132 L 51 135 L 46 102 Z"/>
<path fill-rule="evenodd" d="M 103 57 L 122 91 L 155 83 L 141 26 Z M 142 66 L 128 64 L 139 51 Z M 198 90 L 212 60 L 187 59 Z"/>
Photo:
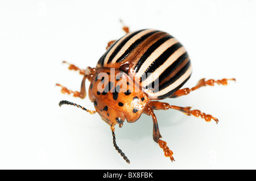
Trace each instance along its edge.
<path fill-rule="evenodd" d="M 135 67 L 134 67 L 135 72 L 138 73 L 138 71 L 141 68 L 141 66 L 144 63 L 144 61 L 146 61 L 146 59 L 150 56 L 151 53 L 154 52 L 154 50 L 156 50 L 160 45 L 162 45 L 165 41 L 167 41 L 168 39 L 171 39 L 171 38 L 172 38 L 172 36 L 168 35 L 168 36 L 163 37 L 162 39 L 156 41 L 154 44 L 152 44 L 146 50 L 146 52 L 142 55 L 142 57 L 139 59 L 137 64 L 135 65 Z"/>

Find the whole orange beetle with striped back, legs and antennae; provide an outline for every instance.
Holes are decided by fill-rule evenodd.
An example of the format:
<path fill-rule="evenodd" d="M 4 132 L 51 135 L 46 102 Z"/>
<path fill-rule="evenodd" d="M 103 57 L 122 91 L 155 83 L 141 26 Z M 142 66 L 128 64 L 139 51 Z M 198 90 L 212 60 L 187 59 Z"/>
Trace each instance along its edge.
<path fill-rule="evenodd" d="M 80 91 L 71 91 L 57 83 L 61 92 L 73 94 L 84 99 L 86 96 L 85 80 L 90 81 L 89 99 L 94 104 L 95 111 L 87 110 L 79 104 L 62 100 L 59 106 L 68 104 L 76 106 L 91 114 L 98 113 L 108 125 L 113 134 L 113 144 L 118 153 L 127 163 L 130 160 L 118 148 L 115 141 L 114 126 L 121 128 L 124 121 L 134 123 L 142 113 L 152 117 L 153 140 L 163 149 L 164 155 L 174 161 L 173 152 L 168 148 L 162 138 L 154 110 L 177 110 L 185 115 L 201 117 L 205 121 L 218 119 L 191 107 L 171 106 L 159 102 L 166 98 L 177 98 L 188 95 L 191 91 L 203 86 L 227 85 L 234 78 L 215 81 L 201 79 L 191 89 L 181 89 L 191 77 L 191 61 L 183 45 L 166 32 L 159 30 L 139 30 L 130 32 L 129 27 L 123 26 L 126 32 L 118 40 L 110 41 L 106 52 L 100 57 L 96 68 L 80 69 L 69 64 L 70 70 L 79 71 L 84 75 Z"/>

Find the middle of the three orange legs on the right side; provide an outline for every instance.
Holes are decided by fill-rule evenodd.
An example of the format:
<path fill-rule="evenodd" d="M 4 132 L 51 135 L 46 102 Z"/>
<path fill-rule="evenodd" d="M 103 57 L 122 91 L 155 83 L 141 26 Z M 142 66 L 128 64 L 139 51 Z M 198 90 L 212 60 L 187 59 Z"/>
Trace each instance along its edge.
<path fill-rule="evenodd" d="M 152 101 L 148 104 L 148 106 L 152 106 L 154 110 L 168 110 L 168 109 L 173 109 L 173 110 L 178 110 L 183 112 L 185 115 L 188 116 L 196 116 L 203 118 L 205 121 L 210 122 L 212 119 L 218 123 L 218 119 L 216 117 L 213 117 L 212 115 L 207 115 L 199 110 L 191 110 L 191 107 L 179 107 L 179 106 L 171 106 L 168 103 L 162 103 L 158 101 Z"/>

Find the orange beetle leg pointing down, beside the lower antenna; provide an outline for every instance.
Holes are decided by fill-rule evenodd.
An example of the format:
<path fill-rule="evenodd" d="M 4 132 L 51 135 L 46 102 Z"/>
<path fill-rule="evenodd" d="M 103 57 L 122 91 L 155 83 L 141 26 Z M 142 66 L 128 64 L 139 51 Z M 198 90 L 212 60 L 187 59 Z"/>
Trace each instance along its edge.
<path fill-rule="evenodd" d="M 152 107 L 147 106 L 144 110 L 144 113 L 146 113 L 146 115 L 148 116 L 152 116 L 153 119 L 153 139 L 156 143 L 159 144 L 160 148 L 163 149 L 164 151 L 164 155 L 166 157 L 170 157 L 171 161 L 175 161 L 174 157 L 172 157 L 172 151 L 168 148 L 167 143 L 165 141 L 160 140 L 160 138 L 162 138 L 160 132 L 159 132 L 159 128 L 158 128 L 158 121 L 156 120 L 156 116 L 154 113 L 154 110 Z"/>

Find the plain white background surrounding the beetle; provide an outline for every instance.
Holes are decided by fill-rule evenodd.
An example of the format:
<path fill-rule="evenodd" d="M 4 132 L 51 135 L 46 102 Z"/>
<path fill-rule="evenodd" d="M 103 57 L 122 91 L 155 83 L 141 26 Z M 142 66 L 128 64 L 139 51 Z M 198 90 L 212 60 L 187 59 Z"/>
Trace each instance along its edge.
<path fill-rule="evenodd" d="M 256 1 L 1 1 L 0 169 L 256 169 Z M 155 28 L 175 36 L 188 50 L 193 74 L 236 78 L 228 86 L 203 87 L 164 100 L 216 116 L 207 123 L 175 110 L 155 111 L 175 162 L 152 140 L 152 119 L 142 115 L 116 128 L 100 116 L 63 106 L 62 83 L 80 90 L 82 76 L 61 64 L 96 66 L 108 41 Z M 86 83 L 88 87 L 89 83 Z"/>

